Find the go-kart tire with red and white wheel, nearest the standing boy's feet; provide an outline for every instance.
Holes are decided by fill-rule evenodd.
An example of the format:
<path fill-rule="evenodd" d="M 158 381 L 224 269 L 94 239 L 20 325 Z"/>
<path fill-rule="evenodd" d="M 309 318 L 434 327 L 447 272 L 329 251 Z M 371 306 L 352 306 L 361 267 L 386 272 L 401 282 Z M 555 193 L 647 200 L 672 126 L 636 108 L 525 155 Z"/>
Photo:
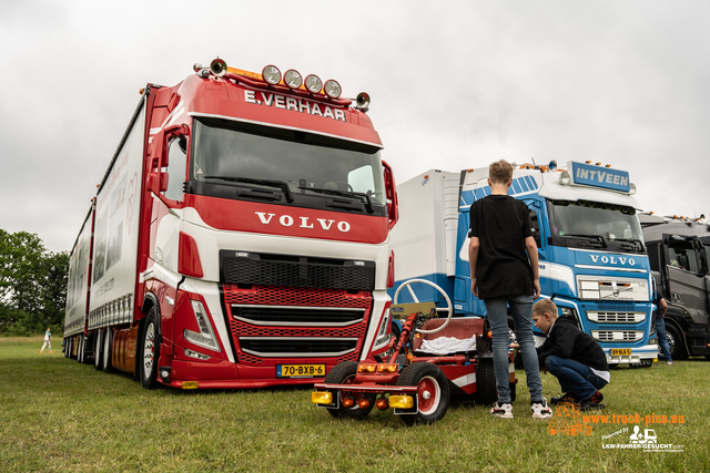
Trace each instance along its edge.
<path fill-rule="evenodd" d="M 417 422 L 429 424 L 446 415 L 450 388 L 444 371 L 436 364 L 417 361 L 406 366 L 397 379 L 397 385 L 417 387 L 417 413 L 400 415 L 407 425 Z"/>

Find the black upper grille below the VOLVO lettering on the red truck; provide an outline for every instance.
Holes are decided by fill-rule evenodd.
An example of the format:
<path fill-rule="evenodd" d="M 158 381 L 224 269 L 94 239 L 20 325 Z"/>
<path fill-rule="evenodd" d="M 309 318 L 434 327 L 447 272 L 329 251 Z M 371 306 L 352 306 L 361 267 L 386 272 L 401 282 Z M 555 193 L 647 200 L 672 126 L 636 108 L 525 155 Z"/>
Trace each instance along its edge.
<path fill-rule="evenodd" d="M 220 278 L 230 285 L 373 290 L 375 263 L 233 250 L 220 251 Z"/>

